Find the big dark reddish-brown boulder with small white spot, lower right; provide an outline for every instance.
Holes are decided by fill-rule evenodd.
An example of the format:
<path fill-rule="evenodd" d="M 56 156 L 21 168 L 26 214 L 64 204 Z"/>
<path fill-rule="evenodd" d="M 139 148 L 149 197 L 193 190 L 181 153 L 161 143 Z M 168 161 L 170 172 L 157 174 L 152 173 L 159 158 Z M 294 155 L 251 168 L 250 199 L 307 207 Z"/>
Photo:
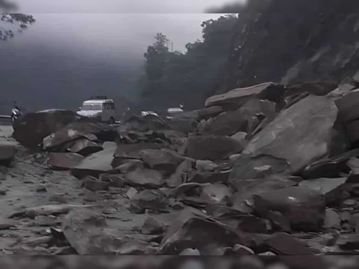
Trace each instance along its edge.
<path fill-rule="evenodd" d="M 325 218 L 325 198 L 317 190 L 288 187 L 253 195 L 254 208 L 263 217 L 282 213 L 293 230 L 319 231 Z"/>

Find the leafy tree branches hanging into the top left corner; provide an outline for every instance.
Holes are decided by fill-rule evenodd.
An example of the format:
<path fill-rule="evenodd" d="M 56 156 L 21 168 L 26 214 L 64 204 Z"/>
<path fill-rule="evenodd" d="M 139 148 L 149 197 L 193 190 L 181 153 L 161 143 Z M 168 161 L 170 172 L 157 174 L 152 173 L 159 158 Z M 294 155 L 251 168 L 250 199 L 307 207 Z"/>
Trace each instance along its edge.
<path fill-rule="evenodd" d="M 7 0 L 0 0 L 0 9 L 4 11 L 10 11 L 16 9 L 17 6 L 14 3 Z M 22 13 L 1 13 L 0 21 L 3 23 L 17 23 L 19 25 L 19 32 L 26 29 L 29 24 L 33 24 L 36 20 L 32 15 Z M 6 41 L 14 37 L 14 32 L 11 29 L 1 27 L 0 25 L 0 41 Z"/>

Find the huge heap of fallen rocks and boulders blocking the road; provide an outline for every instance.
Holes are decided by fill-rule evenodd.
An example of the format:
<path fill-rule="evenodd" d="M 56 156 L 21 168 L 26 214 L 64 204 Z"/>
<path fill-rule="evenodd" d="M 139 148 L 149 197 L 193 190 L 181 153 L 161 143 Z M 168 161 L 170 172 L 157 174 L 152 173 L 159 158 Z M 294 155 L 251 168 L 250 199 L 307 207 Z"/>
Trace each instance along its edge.
<path fill-rule="evenodd" d="M 212 96 L 205 108 L 171 120 L 134 115 L 119 126 L 57 110 L 28 115 L 52 122 L 29 138 L 14 127 L 23 145 L 43 141 L 48 162 L 42 153 L 26 165 L 47 165 L 33 190 L 50 204 L 20 208 L 9 216 L 16 224 L 4 221 L 2 229 L 28 219 L 29 227 L 48 227 L 17 244 L 46 245 L 52 254 L 355 254 L 359 95 L 352 83 L 265 83 Z M 13 150 L 0 143 L 0 160 L 16 166 Z M 56 193 L 47 187 L 50 169 L 77 178 L 76 197 L 59 194 L 60 180 Z M 303 261 L 283 262 L 301 268 Z"/>

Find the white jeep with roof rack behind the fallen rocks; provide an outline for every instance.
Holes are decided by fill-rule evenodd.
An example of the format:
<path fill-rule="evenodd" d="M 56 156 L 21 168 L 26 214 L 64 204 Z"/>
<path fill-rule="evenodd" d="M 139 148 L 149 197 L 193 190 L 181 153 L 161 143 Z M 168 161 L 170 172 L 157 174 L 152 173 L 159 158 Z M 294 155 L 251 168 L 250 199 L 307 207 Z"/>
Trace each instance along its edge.
<path fill-rule="evenodd" d="M 106 96 L 96 96 L 95 99 L 83 102 L 78 115 L 89 118 L 97 118 L 102 122 L 115 123 L 115 102 Z"/>

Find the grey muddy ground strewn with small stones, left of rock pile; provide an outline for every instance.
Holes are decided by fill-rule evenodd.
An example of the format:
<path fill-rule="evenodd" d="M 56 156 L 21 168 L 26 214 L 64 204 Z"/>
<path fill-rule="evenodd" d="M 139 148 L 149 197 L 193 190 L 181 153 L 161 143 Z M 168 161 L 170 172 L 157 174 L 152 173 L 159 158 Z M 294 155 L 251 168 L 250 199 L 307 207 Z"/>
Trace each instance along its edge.
<path fill-rule="evenodd" d="M 10 167 L 0 166 L 0 254 L 51 254 L 56 247 L 33 244 L 32 240 L 46 234 L 46 226 L 39 226 L 31 218 L 9 218 L 27 207 L 48 204 L 92 204 L 94 212 L 107 216 L 112 233 L 118 237 L 145 240 L 139 228 L 149 214 L 134 214 L 127 209 L 124 197 L 126 188 L 112 188 L 106 192 L 92 192 L 81 188 L 82 181 L 69 171 L 54 171 L 47 165 L 47 155 L 31 152 L 11 138 L 12 127 L 0 126 L 0 142 L 18 146 L 18 152 Z M 156 218 L 169 223 L 173 214 L 157 215 Z M 61 228 L 61 219 L 54 228 Z M 11 226 L 11 227 L 9 227 Z"/>

